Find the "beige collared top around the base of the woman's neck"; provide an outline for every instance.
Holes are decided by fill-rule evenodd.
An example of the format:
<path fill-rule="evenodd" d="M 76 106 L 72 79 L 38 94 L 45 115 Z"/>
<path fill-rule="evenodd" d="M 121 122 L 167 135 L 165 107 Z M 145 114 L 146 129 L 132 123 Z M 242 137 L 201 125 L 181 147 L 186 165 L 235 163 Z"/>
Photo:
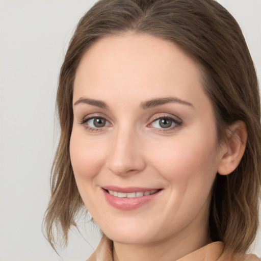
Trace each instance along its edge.
<path fill-rule="evenodd" d="M 103 236 L 96 250 L 86 261 L 113 261 L 113 244 Z M 208 244 L 176 261 L 261 261 L 256 255 L 238 255 L 224 251 L 223 242 Z"/>

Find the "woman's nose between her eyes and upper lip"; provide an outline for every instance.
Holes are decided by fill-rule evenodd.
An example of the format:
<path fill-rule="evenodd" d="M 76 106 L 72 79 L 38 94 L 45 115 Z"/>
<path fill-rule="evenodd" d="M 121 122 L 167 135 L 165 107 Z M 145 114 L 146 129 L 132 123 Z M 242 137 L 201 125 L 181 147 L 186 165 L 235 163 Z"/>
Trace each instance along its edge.
<path fill-rule="evenodd" d="M 135 174 L 145 168 L 142 141 L 137 133 L 118 129 L 112 144 L 106 165 L 115 175 Z"/>

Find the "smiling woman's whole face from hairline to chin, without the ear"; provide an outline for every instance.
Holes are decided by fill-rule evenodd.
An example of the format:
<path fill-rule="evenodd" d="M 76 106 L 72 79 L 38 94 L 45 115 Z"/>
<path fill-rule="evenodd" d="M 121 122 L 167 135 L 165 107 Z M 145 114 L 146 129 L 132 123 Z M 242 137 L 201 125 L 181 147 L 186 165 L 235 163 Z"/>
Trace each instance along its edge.
<path fill-rule="evenodd" d="M 150 35 L 102 38 L 76 72 L 73 114 L 77 187 L 109 238 L 207 237 L 223 153 L 194 60 Z"/>

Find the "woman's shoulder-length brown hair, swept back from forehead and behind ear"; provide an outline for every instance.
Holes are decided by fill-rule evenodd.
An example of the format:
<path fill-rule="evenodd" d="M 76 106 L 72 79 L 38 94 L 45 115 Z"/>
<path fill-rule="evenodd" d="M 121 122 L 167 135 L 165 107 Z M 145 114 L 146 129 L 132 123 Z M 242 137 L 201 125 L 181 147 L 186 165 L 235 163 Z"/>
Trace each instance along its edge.
<path fill-rule="evenodd" d="M 248 140 L 233 173 L 217 174 L 210 206 L 210 237 L 245 252 L 258 227 L 261 128 L 258 83 L 253 61 L 236 20 L 213 0 L 101 0 L 80 20 L 60 72 L 57 108 L 61 126 L 45 215 L 47 239 L 55 246 L 55 228 L 67 243 L 83 209 L 70 163 L 72 93 L 76 69 L 99 38 L 127 31 L 146 33 L 178 45 L 204 71 L 204 88 L 216 113 L 219 141 L 228 126 L 242 120 Z"/>

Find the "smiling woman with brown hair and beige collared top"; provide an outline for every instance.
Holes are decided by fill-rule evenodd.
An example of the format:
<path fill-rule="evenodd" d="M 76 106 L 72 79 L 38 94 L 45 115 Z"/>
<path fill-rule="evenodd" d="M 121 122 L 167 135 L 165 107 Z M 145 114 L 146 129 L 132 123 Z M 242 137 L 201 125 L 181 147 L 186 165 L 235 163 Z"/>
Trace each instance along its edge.
<path fill-rule="evenodd" d="M 85 205 L 91 260 L 259 260 L 260 102 L 238 23 L 213 0 L 102 0 L 61 68 L 45 224 Z"/>

